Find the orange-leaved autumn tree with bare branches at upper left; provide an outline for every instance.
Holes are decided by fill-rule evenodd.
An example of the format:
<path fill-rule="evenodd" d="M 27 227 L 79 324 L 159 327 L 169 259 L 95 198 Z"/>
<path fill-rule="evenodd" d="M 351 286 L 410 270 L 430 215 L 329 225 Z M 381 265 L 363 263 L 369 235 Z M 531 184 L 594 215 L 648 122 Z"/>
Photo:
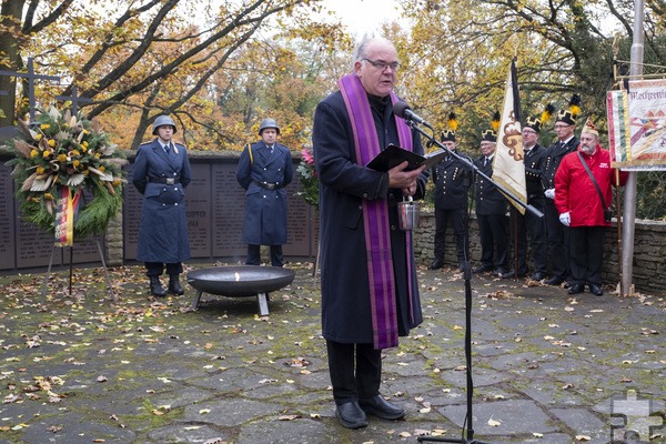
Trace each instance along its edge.
<path fill-rule="evenodd" d="M 99 0 L 3 0 L 0 60 L 2 68 L 20 71 L 31 56 L 41 73 L 75 84 L 81 97 L 92 100 L 85 115 L 115 127 L 128 148 L 162 113 L 179 121 L 182 135 L 219 133 L 211 119 L 218 108 L 210 100 L 210 80 L 269 23 L 289 17 L 283 27 L 301 27 L 319 3 L 123 0 L 110 10 Z M 8 80 L 13 81 L 2 79 Z M 71 93 L 71 85 L 61 92 Z M 2 124 L 22 114 L 11 97 L 0 104 L 7 117 Z"/>

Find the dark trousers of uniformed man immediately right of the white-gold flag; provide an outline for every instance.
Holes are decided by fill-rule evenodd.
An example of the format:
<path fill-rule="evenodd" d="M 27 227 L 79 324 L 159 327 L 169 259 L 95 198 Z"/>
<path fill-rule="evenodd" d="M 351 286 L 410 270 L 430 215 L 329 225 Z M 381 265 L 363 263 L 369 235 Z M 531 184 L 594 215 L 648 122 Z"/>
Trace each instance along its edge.
<path fill-rule="evenodd" d="M 529 200 L 528 203 L 538 211 L 544 211 L 543 200 L 541 200 L 541 202 L 536 199 Z M 529 246 L 532 246 L 532 259 L 534 261 L 534 271 L 545 274 L 547 244 L 546 222 L 544 218 L 537 218 L 529 211 L 525 211 L 525 215 L 523 215 L 518 212 L 518 210 L 512 206 L 509 221 L 508 231 L 511 232 L 511 244 L 516 251 L 518 273 L 527 273 L 527 239 L 529 239 Z M 515 263 L 513 265 L 515 266 Z"/>

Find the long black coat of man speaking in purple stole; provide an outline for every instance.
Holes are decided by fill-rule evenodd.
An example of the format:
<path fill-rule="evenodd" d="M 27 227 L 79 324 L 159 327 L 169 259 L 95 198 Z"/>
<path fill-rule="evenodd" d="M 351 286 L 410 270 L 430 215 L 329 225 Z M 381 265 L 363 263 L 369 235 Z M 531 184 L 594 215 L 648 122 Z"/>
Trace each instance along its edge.
<path fill-rule="evenodd" d="M 384 148 L 398 144 L 392 108 L 389 103 L 382 113 L 373 107 L 380 145 Z M 414 152 L 423 154 L 420 137 L 415 132 L 413 137 Z M 398 334 L 404 336 L 423 320 L 416 270 L 407 270 L 406 238 L 397 222 L 396 204 L 402 201 L 402 192 L 389 189 L 387 173 L 356 163 L 352 125 L 340 91 L 316 107 L 312 140 L 320 179 L 323 335 L 341 343 L 373 343 L 362 201 L 382 199 L 389 205 L 389 252 L 394 264 Z M 426 182 L 427 175 L 423 174 L 417 199 L 423 196 Z M 413 294 L 411 306 L 407 285 Z"/>

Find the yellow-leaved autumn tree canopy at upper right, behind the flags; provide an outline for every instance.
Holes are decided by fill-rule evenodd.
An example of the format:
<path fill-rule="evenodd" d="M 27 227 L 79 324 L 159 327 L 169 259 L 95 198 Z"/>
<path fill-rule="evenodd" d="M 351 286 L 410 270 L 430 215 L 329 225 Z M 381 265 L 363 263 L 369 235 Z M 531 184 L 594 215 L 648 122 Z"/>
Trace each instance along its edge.
<path fill-rule="evenodd" d="M 476 141 L 501 107 L 506 70 L 518 57 L 526 112 L 546 103 L 562 108 L 574 92 L 583 113 L 605 114 L 605 93 L 613 87 L 613 44 L 628 60 L 633 1 L 514 0 L 402 2 L 414 20 L 410 53 L 410 93 L 445 122 L 450 111 L 461 130 Z M 646 61 L 664 64 L 662 2 L 646 2 Z"/>

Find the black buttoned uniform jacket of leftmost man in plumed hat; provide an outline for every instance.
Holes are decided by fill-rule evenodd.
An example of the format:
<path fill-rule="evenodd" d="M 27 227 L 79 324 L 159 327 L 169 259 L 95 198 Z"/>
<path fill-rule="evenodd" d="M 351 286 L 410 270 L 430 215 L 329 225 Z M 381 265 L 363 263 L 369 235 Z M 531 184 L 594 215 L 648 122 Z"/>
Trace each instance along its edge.
<path fill-rule="evenodd" d="M 457 151 L 456 151 L 457 152 Z M 460 153 L 458 153 L 460 155 Z M 472 163 L 472 159 L 462 155 Z M 447 155 L 433 168 L 436 210 L 461 210 L 467 208 L 467 190 L 472 184 L 471 167 Z"/>

